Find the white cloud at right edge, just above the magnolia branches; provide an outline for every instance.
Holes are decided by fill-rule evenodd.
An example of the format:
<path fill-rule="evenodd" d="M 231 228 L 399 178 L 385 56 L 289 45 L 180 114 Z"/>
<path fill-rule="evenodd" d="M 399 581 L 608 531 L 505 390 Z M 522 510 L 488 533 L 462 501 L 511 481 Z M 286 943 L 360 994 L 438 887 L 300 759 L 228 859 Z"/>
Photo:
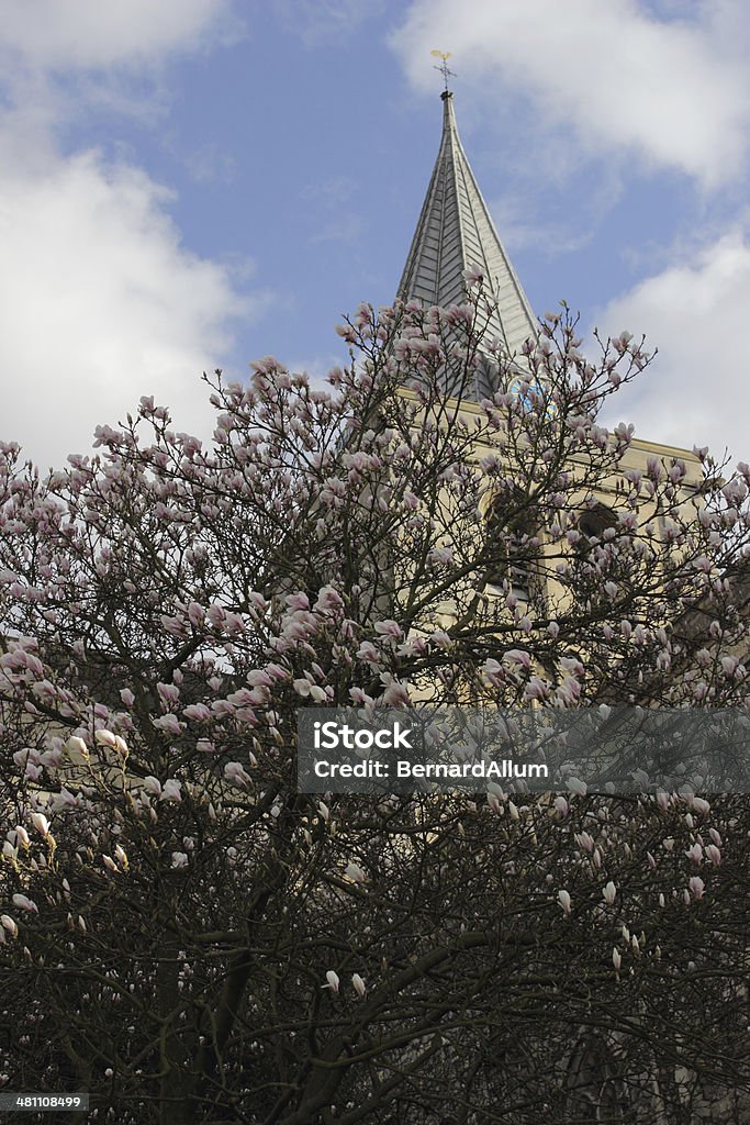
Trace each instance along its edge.
<path fill-rule="evenodd" d="M 659 349 L 613 421 L 634 422 L 641 438 L 750 459 L 748 308 L 750 237 L 740 228 L 613 300 L 599 326 L 645 332 Z"/>

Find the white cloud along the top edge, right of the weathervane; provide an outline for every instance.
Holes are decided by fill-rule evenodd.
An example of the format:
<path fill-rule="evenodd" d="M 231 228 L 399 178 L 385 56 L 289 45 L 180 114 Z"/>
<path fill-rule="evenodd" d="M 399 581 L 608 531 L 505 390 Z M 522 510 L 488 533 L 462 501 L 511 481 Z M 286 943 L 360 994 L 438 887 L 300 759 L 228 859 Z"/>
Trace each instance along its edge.
<path fill-rule="evenodd" d="M 417 88 L 435 88 L 431 48 L 450 47 L 462 88 L 481 90 L 488 110 L 522 91 L 550 133 L 572 126 L 585 150 L 711 188 L 746 164 L 750 10 L 680 8 L 685 18 L 660 20 L 638 0 L 415 0 L 391 45 Z"/>

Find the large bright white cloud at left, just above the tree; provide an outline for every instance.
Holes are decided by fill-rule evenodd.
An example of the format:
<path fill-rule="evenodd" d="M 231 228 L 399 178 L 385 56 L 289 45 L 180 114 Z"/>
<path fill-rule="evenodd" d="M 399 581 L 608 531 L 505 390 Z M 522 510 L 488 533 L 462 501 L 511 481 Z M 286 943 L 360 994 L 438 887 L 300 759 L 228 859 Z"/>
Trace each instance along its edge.
<path fill-rule="evenodd" d="M 180 244 L 168 195 L 96 153 L 0 184 L 0 436 L 43 467 L 88 452 L 94 426 L 143 394 L 172 406 L 179 429 L 210 429 L 200 372 L 220 366 L 232 317 L 257 300 Z"/>

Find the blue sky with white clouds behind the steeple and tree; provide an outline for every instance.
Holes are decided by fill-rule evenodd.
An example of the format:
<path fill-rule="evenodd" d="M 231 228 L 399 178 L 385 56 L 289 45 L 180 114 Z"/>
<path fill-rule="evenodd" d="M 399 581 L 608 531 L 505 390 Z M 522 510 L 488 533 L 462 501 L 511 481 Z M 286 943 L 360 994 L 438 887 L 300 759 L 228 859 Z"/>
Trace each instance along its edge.
<path fill-rule="evenodd" d="M 337 362 L 398 284 L 435 47 L 533 307 L 658 345 L 639 435 L 750 459 L 744 0 L 0 0 L 0 439 L 60 465 L 144 394 L 202 434 L 204 369 Z"/>

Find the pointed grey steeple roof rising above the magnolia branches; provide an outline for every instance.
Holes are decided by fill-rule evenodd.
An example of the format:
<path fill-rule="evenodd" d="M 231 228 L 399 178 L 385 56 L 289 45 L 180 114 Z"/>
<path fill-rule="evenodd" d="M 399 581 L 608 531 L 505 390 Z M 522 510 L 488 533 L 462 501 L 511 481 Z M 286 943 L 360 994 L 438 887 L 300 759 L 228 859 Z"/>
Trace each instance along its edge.
<path fill-rule="evenodd" d="M 461 145 L 453 94 L 443 99 L 443 136 L 398 297 L 425 305 L 455 305 L 466 299 L 463 270 L 479 267 L 498 300 L 488 335 L 519 353 L 539 325 L 500 242 L 487 204 Z"/>

